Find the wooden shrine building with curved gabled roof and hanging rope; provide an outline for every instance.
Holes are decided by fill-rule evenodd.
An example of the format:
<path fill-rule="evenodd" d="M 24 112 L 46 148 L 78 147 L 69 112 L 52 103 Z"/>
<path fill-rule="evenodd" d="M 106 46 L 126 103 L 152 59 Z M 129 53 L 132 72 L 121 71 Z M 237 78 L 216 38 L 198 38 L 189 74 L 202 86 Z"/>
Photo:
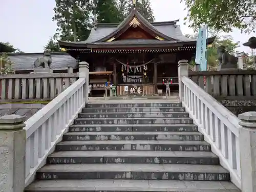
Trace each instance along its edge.
<path fill-rule="evenodd" d="M 92 92 L 104 90 L 110 81 L 118 96 L 129 95 L 131 87 L 140 87 L 142 95 L 154 95 L 164 92 L 163 79 L 169 78 L 178 90 L 178 61 L 190 60 L 196 53 L 197 39 L 185 37 L 177 22 L 149 23 L 135 7 L 120 24 L 98 24 L 87 40 L 59 41 L 59 45 L 89 63 Z M 214 39 L 209 38 L 208 44 Z"/>

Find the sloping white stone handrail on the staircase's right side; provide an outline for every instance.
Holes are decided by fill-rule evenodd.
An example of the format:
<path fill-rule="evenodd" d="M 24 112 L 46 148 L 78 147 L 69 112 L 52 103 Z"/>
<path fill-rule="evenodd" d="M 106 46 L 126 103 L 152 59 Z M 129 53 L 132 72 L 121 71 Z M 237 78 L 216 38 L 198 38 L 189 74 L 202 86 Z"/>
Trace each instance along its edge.
<path fill-rule="evenodd" d="M 219 103 L 214 97 L 206 93 L 202 88 L 200 88 L 194 81 L 183 76 L 182 82 L 191 90 L 197 90 L 194 94 L 200 99 L 207 103 L 207 107 L 215 113 L 215 115 L 228 126 L 228 129 L 232 131 L 234 135 L 239 137 L 239 121 L 240 119 L 232 114 L 225 106 Z M 228 120 L 228 121 L 227 121 Z"/>

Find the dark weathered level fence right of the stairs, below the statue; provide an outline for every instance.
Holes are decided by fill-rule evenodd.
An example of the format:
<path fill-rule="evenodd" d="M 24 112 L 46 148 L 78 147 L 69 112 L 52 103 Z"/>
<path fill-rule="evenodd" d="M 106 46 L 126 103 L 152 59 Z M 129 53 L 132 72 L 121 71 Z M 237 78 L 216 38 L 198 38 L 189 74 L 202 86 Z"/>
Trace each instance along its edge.
<path fill-rule="evenodd" d="M 218 100 L 256 97 L 256 70 L 190 71 L 189 77 Z"/>

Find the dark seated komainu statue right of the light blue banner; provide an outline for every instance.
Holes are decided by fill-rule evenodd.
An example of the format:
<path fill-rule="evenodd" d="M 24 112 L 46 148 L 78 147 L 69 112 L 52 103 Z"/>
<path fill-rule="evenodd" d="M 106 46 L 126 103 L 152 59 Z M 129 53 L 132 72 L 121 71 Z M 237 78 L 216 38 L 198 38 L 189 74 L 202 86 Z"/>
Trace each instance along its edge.
<path fill-rule="evenodd" d="M 237 58 L 226 52 L 224 46 L 220 46 L 217 49 L 219 66 L 218 70 L 237 69 Z"/>

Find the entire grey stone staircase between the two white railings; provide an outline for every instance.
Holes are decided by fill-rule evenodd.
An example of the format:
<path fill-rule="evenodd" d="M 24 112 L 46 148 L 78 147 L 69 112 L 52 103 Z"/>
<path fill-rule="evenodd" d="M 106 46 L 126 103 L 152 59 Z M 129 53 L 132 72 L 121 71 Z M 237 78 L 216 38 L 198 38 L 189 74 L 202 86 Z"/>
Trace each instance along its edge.
<path fill-rule="evenodd" d="M 240 191 L 203 139 L 180 103 L 91 103 L 25 191 Z"/>

